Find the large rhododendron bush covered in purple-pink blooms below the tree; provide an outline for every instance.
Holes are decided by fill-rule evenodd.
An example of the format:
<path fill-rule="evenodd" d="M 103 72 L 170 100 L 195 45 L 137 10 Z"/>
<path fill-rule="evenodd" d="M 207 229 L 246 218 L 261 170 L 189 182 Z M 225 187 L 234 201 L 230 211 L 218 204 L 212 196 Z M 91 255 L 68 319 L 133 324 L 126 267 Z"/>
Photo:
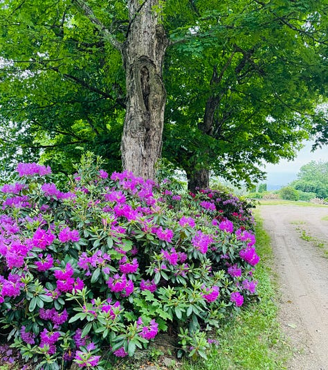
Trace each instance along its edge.
<path fill-rule="evenodd" d="M 35 368 L 102 369 L 160 332 L 206 357 L 230 309 L 253 294 L 250 206 L 172 193 L 82 157 L 66 191 L 51 168 L 19 164 L 1 188 L 0 330 Z"/>

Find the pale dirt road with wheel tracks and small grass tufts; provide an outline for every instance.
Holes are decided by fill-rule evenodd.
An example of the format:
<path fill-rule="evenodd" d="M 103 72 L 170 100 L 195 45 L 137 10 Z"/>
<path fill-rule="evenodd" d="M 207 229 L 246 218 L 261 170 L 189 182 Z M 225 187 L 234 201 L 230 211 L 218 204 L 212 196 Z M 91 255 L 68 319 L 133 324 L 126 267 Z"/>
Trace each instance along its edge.
<path fill-rule="evenodd" d="M 280 322 L 293 346 L 288 369 L 328 370 L 328 208 L 259 206 L 280 277 Z"/>

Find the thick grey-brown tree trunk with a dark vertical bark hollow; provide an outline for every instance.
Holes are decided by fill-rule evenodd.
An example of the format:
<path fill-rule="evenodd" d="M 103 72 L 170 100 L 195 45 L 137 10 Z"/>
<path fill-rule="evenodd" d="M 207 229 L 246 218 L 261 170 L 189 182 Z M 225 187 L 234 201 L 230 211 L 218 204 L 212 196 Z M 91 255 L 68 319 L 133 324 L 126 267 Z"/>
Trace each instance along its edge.
<path fill-rule="evenodd" d="M 168 40 L 158 22 L 158 3 L 129 1 L 130 24 L 122 49 L 127 87 L 122 165 L 147 179 L 154 179 L 161 156 L 166 98 L 162 67 Z"/>

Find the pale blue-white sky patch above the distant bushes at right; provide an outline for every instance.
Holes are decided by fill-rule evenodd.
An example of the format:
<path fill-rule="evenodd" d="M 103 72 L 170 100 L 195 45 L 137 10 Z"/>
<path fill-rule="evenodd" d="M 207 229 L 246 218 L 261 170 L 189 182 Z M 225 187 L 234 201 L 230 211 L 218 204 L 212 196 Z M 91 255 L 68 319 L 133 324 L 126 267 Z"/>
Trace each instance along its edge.
<path fill-rule="evenodd" d="M 312 142 L 305 146 L 293 161 L 281 160 L 279 164 L 267 164 L 265 167 L 267 175 L 266 183 L 271 186 L 284 186 L 297 178 L 300 168 L 310 161 L 328 162 L 328 146 L 323 146 L 311 152 Z"/>

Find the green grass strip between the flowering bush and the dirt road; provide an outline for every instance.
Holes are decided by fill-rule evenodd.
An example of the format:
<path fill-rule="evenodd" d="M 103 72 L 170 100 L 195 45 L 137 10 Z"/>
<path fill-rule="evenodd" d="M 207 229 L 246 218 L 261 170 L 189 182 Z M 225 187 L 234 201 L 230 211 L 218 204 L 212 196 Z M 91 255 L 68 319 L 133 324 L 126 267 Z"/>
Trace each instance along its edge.
<path fill-rule="evenodd" d="M 250 304 L 233 320 L 221 327 L 220 342 L 207 361 L 185 362 L 183 370 L 277 370 L 286 369 L 291 355 L 277 323 L 277 284 L 271 270 L 273 252 L 270 238 L 257 219 L 257 253 L 261 261 L 256 267 L 259 301 Z"/>

